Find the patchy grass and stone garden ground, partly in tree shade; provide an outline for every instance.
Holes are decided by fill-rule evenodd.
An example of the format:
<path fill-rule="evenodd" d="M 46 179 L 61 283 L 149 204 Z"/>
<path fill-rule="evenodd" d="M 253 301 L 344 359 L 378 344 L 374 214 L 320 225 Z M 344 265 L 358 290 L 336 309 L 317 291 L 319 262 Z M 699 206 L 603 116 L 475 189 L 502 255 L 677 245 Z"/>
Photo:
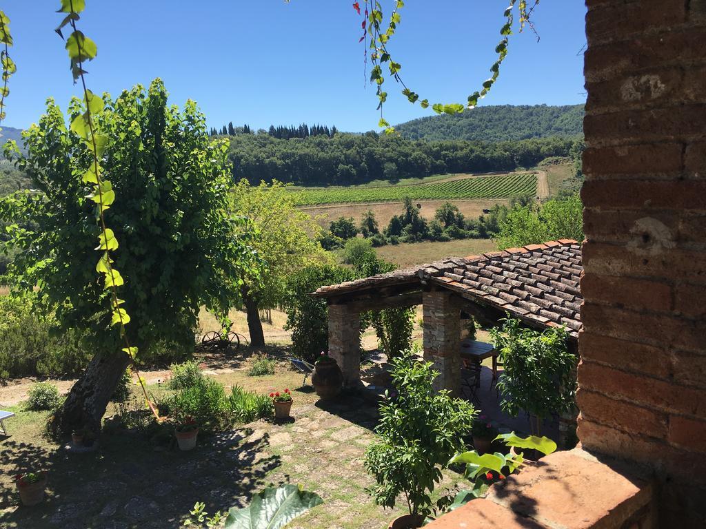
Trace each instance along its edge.
<path fill-rule="evenodd" d="M 191 452 L 155 451 L 150 435 L 138 427 L 112 427 L 99 450 L 72 453 L 44 436 L 47 413 L 14 407 L 17 416 L 7 421 L 11 437 L 0 440 L 0 527 L 177 528 L 196 501 L 204 501 L 213 513 L 245 506 L 253 493 L 282 483 L 301 483 L 324 500 L 288 528 L 386 527 L 402 511 L 375 506 L 365 490 L 371 478 L 364 452 L 374 439 L 376 407 L 359 397 L 324 405 L 311 387 L 301 387 L 302 376 L 284 361 L 277 363 L 274 375 L 263 377 L 247 376 L 249 363 L 247 358 L 231 361 L 227 371 L 209 363 L 206 372 L 227 386 L 237 383 L 266 393 L 291 389 L 294 420 L 200 434 Z M 167 390 L 152 384 L 150 391 L 158 397 Z M 138 411 L 137 399 L 133 402 L 128 415 L 139 424 L 146 412 Z M 107 416 L 116 411 L 112 406 Z M 13 476 L 36 468 L 49 473 L 47 498 L 33 508 L 18 506 Z M 448 472 L 438 493 L 453 489 L 458 479 Z"/>

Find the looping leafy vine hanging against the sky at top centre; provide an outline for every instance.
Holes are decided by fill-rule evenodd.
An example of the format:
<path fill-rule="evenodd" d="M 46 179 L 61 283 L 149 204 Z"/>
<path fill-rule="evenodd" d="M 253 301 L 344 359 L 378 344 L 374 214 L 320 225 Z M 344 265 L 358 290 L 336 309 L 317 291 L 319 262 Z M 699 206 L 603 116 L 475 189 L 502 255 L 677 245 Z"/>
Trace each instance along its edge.
<path fill-rule="evenodd" d="M 531 8 L 527 8 L 527 0 L 510 0 L 510 5 L 505 8 L 503 12 L 503 17 L 505 18 L 505 23 L 500 30 L 501 40 L 495 47 L 495 52 L 498 54 L 497 59 L 493 62 L 490 67 L 491 76 L 484 80 L 481 88 L 471 95 L 468 96 L 466 104 L 461 103 L 433 103 L 429 102 L 429 99 L 419 100 L 419 94 L 410 90 L 405 82 L 402 80 L 400 75 L 400 70 L 402 65 L 393 59 L 393 56 L 388 50 L 388 43 L 390 39 L 395 35 L 397 31 L 397 25 L 400 24 L 401 16 L 400 9 L 405 6 L 404 0 L 395 0 L 395 7 L 392 13 L 390 13 L 390 19 L 386 28 L 383 28 L 383 8 L 378 0 L 364 0 L 364 12 L 362 29 L 363 36 L 361 37 L 361 42 L 365 41 L 369 37 L 370 44 L 369 49 L 371 50 L 370 59 L 373 64 L 373 68 L 370 73 L 371 83 L 375 83 L 377 86 L 376 95 L 378 97 L 378 110 L 380 111 L 380 121 L 378 126 L 385 129 L 385 133 L 391 134 L 395 132 L 395 128 L 390 126 L 390 123 L 385 120 L 383 115 L 383 104 L 387 101 L 388 92 L 383 90 L 385 84 L 385 74 L 383 74 L 383 65 L 388 67 L 390 76 L 395 80 L 395 82 L 402 85 L 402 95 L 407 97 L 407 100 L 414 104 L 419 101 L 421 108 L 426 109 L 429 106 L 436 112 L 436 114 L 460 114 L 465 109 L 473 109 L 477 106 L 479 99 L 483 99 L 486 94 L 491 90 L 491 87 L 496 82 L 498 75 L 500 74 L 500 66 L 508 55 L 508 37 L 512 35 L 512 27 L 514 21 L 514 11 L 515 7 L 519 11 L 520 15 L 520 32 L 525 28 L 525 24 L 529 25 L 534 31 L 534 26 L 530 21 L 530 15 L 534 8 L 539 4 L 539 0 L 534 0 L 534 4 Z M 361 5 L 358 1 L 354 2 L 353 8 L 360 15 Z M 535 32 L 536 33 L 536 32 Z M 366 61 L 367 61 L 367 49 L 366 49 Z"/>

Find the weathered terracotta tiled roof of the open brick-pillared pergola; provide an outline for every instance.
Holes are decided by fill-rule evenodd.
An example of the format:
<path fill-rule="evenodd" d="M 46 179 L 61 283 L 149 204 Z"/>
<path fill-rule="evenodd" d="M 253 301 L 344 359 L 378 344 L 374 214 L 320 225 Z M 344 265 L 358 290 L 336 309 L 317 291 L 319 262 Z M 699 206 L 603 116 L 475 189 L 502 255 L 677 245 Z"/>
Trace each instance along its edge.
<path fill-rule="evenodd" d="M 559 239 L 483 255 L 451 257 L 389 274 L 322 286 L 313 295 L 329 298 L 386 286 L 414 286 L 426 279 L 469 300 L 510 312 L 525 322 L 550 327 L 564 325 L 575 338 L 581 328 L 582 270 L 580 244 Z"/>

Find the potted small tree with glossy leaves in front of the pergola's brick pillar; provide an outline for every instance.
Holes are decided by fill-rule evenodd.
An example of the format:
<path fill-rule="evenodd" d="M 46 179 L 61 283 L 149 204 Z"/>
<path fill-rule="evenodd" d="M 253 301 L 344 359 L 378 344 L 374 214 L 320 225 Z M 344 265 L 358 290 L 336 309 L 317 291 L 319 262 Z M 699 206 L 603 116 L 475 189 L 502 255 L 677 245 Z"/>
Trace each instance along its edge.
<path fill-rule="evenodd" d="M 390 364 L 395 396 L 385 395 L 378 439 L 366 452 L 365 466 L 376 480 L 369 492 L 376 504 L 390 508 L 401 495 L 409 514 L 390 528 L 417 528 L 433 510 L 431 493 L 441 481 L 442 468 L 460 450 L 475 411 L 448 391 L 434 391 L 438 373 L 431 363 L 407 351 Z"/>

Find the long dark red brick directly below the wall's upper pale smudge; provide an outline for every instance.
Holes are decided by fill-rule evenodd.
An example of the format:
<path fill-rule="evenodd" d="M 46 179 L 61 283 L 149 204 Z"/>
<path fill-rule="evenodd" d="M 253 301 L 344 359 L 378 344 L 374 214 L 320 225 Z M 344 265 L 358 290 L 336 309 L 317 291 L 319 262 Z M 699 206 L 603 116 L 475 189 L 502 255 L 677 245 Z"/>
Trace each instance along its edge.
<path fill-rule="evenodd" d="M 611 114 L 587 114 L 583 120 L 590 147 L 629 142 L 683 140 L 704 137 L 706 105 L 690 104 L 651 110 L 623 110 Z"/>

